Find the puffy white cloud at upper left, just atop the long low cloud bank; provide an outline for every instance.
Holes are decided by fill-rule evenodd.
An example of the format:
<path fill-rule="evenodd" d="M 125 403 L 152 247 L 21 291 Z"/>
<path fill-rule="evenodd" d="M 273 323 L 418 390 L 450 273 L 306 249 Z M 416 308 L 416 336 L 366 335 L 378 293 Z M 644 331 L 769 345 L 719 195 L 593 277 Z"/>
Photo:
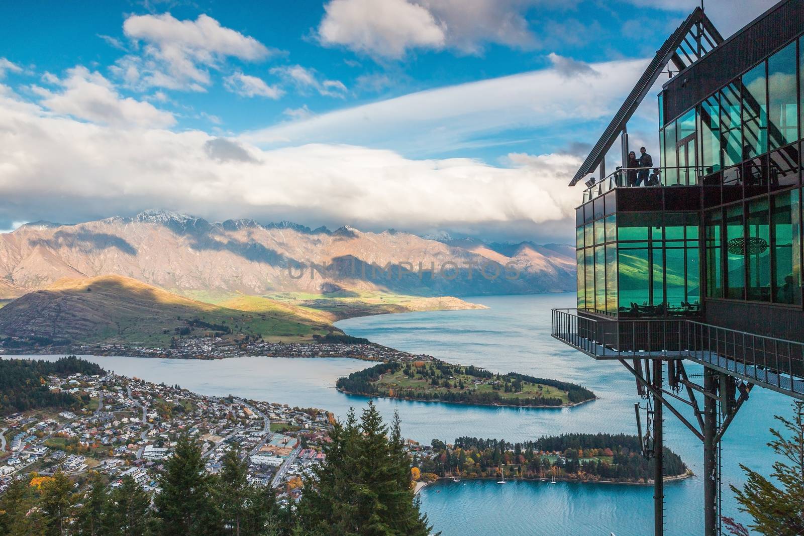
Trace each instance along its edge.
<path fill-rule="evenodd" d="M 167 127 L 176 122 L 172 113 L 120 96 L 103 75 L 83 66 L 68 69 L 62 80 L 53 75 L 48 80 L 59 84 L 61 91 L 32 89 L 42 97 L 40 104 L 55 113 L 113 126 Z"/>

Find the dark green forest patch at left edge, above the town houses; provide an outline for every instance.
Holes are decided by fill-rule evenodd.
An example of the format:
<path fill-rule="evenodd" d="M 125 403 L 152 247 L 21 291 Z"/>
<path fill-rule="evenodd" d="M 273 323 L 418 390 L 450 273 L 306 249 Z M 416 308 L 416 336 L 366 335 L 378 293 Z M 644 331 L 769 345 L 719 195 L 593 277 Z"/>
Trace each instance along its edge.
<path fill-rule="evenodd" d="M 71 355 L 57 361 L 0 359 L 0 415 L 38 407 L 76 409 L 84 403 L 70 393 L 47 389 L 45 377 L 54 374 L 103 374 L 96 363 Z"/>

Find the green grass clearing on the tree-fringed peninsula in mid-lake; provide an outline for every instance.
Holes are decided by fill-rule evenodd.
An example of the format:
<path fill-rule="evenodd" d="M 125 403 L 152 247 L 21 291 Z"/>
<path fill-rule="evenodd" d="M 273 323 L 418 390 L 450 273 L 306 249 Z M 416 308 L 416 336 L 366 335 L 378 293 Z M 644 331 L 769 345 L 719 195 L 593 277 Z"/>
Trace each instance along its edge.
<path fill-rule="evenodd" d="M 433 370 L 432 363 L 425 363 L 425 370 L 429 374 Z M 464 370 L 466 368 L 464 367 Z M 549 387 L 540 383 L 522 383 L 522 391 L 519 392 L 505 392 L 504 389 L 494 389 L 494 385 L 502 385 L 504 380 L 498 381 L 496 378 L 478 378 L 470 374 L 452 374 L 449 378 L 449 383 L 454 385 L 461 381 L 464 384 L 466 391 L 474 391 L 477 393 L 483 392 L 497 392 L 503 399 L 531 399 L 531 398 L 556 398 L 561 399 L 561 403 L 569 403 L 567 391 L 561 391 L 556 387 Z M 422 393 L 444 393 L 449 390 L 455 391 L 459 388 L 450 387 L 436 387 L 431 383 L 431 378 L 414 378 L 408 377 L 404 374 L 404 370 L 399 370 L 396 373 L 384 374 L 376 383 L 379 389 L 388 390 L 412 390 L 420 391 Z"/>

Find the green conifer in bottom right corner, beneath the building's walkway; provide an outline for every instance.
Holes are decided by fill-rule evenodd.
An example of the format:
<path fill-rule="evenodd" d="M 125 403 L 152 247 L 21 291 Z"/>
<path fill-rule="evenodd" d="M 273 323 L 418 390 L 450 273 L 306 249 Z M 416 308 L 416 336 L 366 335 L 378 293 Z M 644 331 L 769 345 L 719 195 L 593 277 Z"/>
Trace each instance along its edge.
<path fill-rule="evenodd" d="M 771 473 L 771 477 L 779 481 L 782 487 L 777 487 L 743 464 L 740 464 L 740 468 L 745 471 L 748 482 L 741 490 L 731 486 L 740 503 L 740 510 L 753 518 L 750 527 L 760 534 L 804 534 L 804 402 L 795 402 L 793 407 L 793 420 L 776 416 L 790 437 L 770 429 L 775 439 L 768 446 L 786 460 L 777 460 Z M 732 534 L 740 534 L 739 527 L 730 530 Z"/>

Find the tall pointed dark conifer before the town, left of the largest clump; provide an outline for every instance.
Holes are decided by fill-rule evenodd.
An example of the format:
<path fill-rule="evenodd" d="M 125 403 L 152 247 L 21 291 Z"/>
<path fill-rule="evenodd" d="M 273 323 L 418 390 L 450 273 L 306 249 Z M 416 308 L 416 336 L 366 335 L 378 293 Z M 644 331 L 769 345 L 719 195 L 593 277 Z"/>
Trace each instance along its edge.
<path fill-rule="evenodd" d="M 204 471 L 201 448 L 186 432 L 178 437 L 159 486 L 154 506 L 160 534 L 220 534 L 218 509 L 211 500 L 211 478 Z"/>

